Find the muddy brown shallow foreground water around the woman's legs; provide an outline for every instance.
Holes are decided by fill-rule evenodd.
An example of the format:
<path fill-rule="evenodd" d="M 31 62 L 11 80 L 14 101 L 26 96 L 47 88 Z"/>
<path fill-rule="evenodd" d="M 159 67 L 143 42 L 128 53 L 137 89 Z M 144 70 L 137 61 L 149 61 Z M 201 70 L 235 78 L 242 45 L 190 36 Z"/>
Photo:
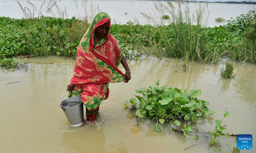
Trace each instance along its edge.
<path fill-rule="evenodd" d="M 159 133 L 154 131 L 156 121 L 136 121 L 135 111 L 124 107 L 124 102 L 134 95 L 136 89 L 161 85 L 179 89 L 201 89 L 198 98 L 209 101 L 209 110 L 216 111 L 210 118 L 193 125 L 202 131 L 215 129 L 214 120 L 221 120 L 223 112 L 232 115 L 223 120 L 225 133 L 256 135 L 256 65 L 235 65 L 234 79 L 220 78 L 220 66 L 189 63 L 183 71 L 183 61 L 173 58 L 159 60 L 143 57 L 128 61 L 132 79 L 129 83 L 110 84 L 110 95 L 100 105 L 98 124 L 84 123 L 70 127 L 60 108 L 61 97 L 72 77 L 75 60 L 50 56 L 47 58 L 20 58 L 28 62 L 20 69 L 0 68 L 0 152 L 1 153 L 139 153 L 179 152 L 215 153 L 204 140 L 198 141 L 176 133 L 168 124 Z M 119 67 L 122 71 L 122 65 Z M 64 96 L 67 98 L 67 93 Z M 131 106 L 130 106 L 131 107 Z M 129 108 L 129 107 L 128 107 Z M 194 133 L 192 133 L 193 135 Z M 201 139 L 205 133 L 197 133 Z M 235 138 L 223 138 L 221 142 L 236 147 Z M 253 149 L 241 151 L 254 153 Z M 223 143 L 222 149 L 231 153 Z"/>

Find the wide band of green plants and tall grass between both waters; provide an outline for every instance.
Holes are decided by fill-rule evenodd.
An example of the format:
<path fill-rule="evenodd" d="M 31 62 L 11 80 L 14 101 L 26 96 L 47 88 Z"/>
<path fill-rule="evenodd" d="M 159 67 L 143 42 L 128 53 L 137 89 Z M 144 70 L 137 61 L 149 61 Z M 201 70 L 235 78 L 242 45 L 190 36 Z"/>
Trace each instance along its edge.
<path fill-rule="evenodd" d="M 15 66 L 18 61 L 13 57 L 20 55 L 76 57 L 78 43 L 96 9 L 85 10 L 91 12 L 91 15 L 85 13 L 81 19 L 65 18 L 66 11 L 60 10 L 56 2 L 50 2 L 47 12 L 56 7 L 60 17 L 44 17 L 41 8 L 36 10 L 29 2 L 33 8 L 31 10 L 20 5 L 25 18 L 0 17 L 1 66 Z M 159 58 L 183 58 L 185 65 L 189 61 L 218 63 L 222 58 L 256 62 L 256 11 L 231 18 L 223 26 L 206 27 L 208 14 L 204 15 L 204 12 L 207 11 L 207 4 L 200 5 L 196 14 L 191 14 L 188 2 L 178 1 L 176 8 L 171 1 L 166 3 L 155 3 L 159 18 L 153 18 L 155 15 L 150 13 L 142 13 L 153 25 L 140 25 L 138 20 L 135 23 L 129 21 L 125 25 L 111 25 L 110 33 L 118 40 L 126 58 L 138 59 L 143 52 Z M 186 5 L 185 13 L 181 5 Z M 39 17 L 34 17 L 35 12 Z M 167 13 L 170 22 L 165 25 L 162 17 Z"/>

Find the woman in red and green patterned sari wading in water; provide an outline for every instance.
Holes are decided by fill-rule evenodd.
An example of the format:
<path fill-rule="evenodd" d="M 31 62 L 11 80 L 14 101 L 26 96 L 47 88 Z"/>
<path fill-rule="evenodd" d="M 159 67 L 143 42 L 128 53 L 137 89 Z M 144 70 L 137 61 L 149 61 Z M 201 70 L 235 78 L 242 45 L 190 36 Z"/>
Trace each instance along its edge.
<path fill-rule="evenodd" d="M 80 41 L 73 77 L 67 88 L 69 97 L 81 95 L 86 121 L 97 121 L 100 103 L 109 95 L 108 83 L 127 83 L 131 79 L 129 66 L 109 28 L 109 15 L 98 13 Z M 117 68 L 120 62 L 125 74 Z"/>

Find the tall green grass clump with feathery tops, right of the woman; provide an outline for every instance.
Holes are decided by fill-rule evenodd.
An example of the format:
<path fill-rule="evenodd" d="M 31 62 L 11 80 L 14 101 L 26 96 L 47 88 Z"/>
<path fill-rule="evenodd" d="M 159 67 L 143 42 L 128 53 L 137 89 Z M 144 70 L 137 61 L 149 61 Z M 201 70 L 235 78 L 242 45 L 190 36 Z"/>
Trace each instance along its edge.
<path fill-rule="evenodd" d="M 185 6 L 185 12 L 181 5 Z M 167 5 L 156 2 L 155 8 L 160 14 L 159 17 L 154 12 L 141 14 L 156 26 L 155 31 L 145 33 L 145 39 L 157 55 L 164 55 L 164 51 L 169 57 L 185 58 L 186 64 L 189 60 L 206 63 L 216 58 L 212 56 L 212 52 L 207 47 L 209 40 L 204 30 L 208 20 L 208 14 L 205 14 L 207 3 L 204 6 L 199 4 L 196 14 L 190 12 L 188 1 L 178 1 L 177 8 L 171 1 L 167 1 Z M 165 12 L 171 15 L 170 24 L 167 26 L 161 18 L 166 14 Z M 171 35 L 170 30 L 172 30 Z"/>

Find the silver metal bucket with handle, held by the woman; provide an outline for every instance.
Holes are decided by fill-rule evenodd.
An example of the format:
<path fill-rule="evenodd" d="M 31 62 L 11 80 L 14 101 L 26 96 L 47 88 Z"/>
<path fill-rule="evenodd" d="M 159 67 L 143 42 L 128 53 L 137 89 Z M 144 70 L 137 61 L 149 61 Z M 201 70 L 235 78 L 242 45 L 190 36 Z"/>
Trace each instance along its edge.
<path fill-rule="evenodd" d="M 66 92 L 64 92 L 64 94 Z M 84 104 L 81 100 L 81 97 L 70 97 L 62 101 L 63 96 L 61 98 L 60 108 L 64 111 L 69 121 L 69 125 L 71 127 L 78 127 L 80 125 L 83 125 L 85 121 Z"/>

